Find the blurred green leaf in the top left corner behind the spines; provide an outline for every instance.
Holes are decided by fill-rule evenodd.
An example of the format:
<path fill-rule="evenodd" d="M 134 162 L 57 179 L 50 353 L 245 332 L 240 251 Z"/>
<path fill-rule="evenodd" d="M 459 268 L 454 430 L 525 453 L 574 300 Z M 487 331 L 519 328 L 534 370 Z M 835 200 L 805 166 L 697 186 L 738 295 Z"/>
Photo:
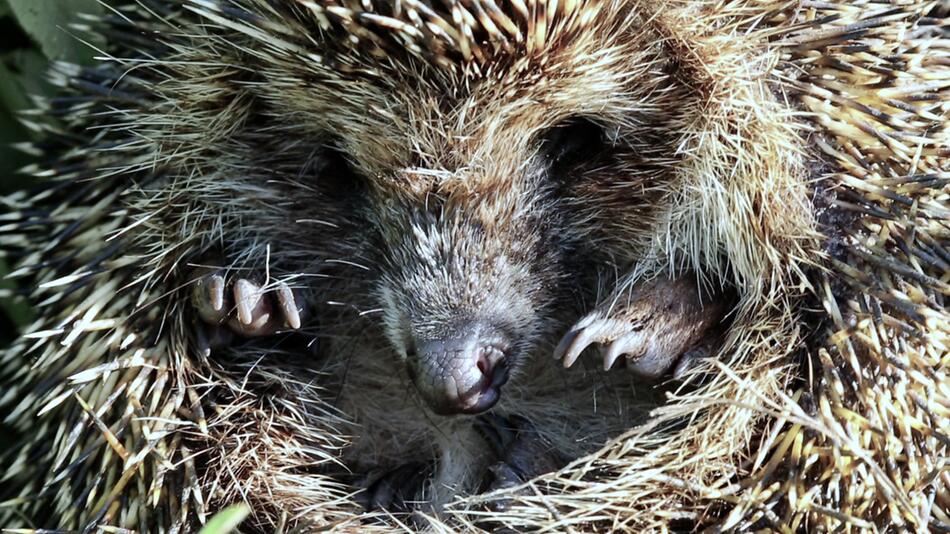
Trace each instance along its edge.
<path fill-rule="evenodd" d="M 20 26 L 33 38 L 49 59 L 88 64 L 93 50 L 79 38 L 70 24 L 82 22 L 80 13 L 100 14 L 96 0 L 6 0 Z"/>

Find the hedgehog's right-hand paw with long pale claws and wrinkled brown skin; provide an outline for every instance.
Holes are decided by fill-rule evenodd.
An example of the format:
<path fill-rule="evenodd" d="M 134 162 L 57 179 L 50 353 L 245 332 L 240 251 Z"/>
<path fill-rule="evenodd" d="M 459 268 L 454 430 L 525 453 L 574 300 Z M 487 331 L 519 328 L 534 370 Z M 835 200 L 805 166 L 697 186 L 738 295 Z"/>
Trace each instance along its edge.
<path fill-rule="evenodd" d="M 708 355 L 715 327 L 730 302 L 726 295 L 703 301 L 693 277 L 657 278 L 625 297 L 578 321 L 554 357 L 570 367 L 584 349 L 596 344 L 605 370 L 626 355 L 627 369 L 640 376 L 659 378 L 674 370 L 678 378 L 692 361 Z"/>

